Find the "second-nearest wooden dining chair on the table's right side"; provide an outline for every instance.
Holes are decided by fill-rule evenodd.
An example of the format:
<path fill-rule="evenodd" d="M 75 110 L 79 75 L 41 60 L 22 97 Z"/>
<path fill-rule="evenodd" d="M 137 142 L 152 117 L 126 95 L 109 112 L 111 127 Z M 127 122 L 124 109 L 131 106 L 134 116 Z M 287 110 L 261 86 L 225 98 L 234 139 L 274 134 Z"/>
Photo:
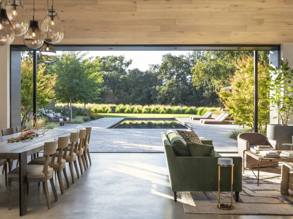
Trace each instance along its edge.
<path fill-rule="evenodd" d="M 69 140 L 69 135 L 58 138 L 57 148 L 58 148 L 59 152 L 60 151 L 62 152 L 63 148 L 65 148 L 64 153 L 67 152 L 68 140 Z M 62 153 L 59 153 L 56 156 L 55 156 L 53 171 L 55 171 L 55 173 L 57 172 L 57 178 L 58 178 L 58 182 L 59 182 L 60 191 L 61 191 L 61 194 L 63 195 L 64 194 L 64 187 L 63 187 L 63 182 L 62 182 L 61 170 L 63 170 L 63 174 L 64 174 L 64 177 L 66 180 L 67 188 L 69 188 L 69 181 L 68 181 L 67 173 L 66 173 L 66 169 L 65 169 L 66 160 L 62 158 Z M 49 163 L 51 162 L 51 159 L 52 159 L 52 157 L 49 158 Z M 38 157 L 38 158 L 31 160 L 28 164 L 29 165 L 44 165 L 45 160 L 46 160 L 46 157 Z"/>

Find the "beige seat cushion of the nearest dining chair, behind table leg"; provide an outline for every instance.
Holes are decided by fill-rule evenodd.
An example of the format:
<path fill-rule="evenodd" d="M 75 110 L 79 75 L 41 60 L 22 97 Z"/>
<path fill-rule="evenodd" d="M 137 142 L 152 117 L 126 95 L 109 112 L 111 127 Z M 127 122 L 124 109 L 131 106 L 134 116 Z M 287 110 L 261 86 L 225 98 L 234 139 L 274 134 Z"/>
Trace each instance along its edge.
<path fill-rule="evenodd" d="M 45 177 L 45 174 L 43 173 L 44 165 L 26 165 L 27 169 L 27 178 L 43 178 Z M 48 167 L 47 176 L 50 176 L 53 174 L 53 168 Z M 19 167 L 16 167 L 12 171 L 10 171 L 8 174 L 8 177 L 13 178 L 19 178 Z"/>

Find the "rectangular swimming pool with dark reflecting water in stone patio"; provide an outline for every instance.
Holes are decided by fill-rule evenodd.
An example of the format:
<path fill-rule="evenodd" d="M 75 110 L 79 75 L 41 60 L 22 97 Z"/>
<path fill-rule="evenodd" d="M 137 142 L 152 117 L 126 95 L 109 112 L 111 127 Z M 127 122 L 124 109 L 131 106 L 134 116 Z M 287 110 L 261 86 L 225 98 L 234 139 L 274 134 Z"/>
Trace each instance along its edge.
<path fill-rule="evenodd" d="M 137 118 L 135 118 L 137 119 Z M 155 129 L 163 129 L 163 128 L 168 128 L 168 129 L 176 129 L 176 128 L 188 128 L 188 126 L 185 126 L 183 123 L 179 122 L 176 119 L 166 119 L 166 120 L 158 120 L 154 119 L 152 120 L 151 118 L 148 118 L 146 120 L 133 120 L 130 119 L 124 119 L 123 121 L 120 121 L 118 124 L 113 125 L 112 127 L 109 128 L 155 128 Z"/>

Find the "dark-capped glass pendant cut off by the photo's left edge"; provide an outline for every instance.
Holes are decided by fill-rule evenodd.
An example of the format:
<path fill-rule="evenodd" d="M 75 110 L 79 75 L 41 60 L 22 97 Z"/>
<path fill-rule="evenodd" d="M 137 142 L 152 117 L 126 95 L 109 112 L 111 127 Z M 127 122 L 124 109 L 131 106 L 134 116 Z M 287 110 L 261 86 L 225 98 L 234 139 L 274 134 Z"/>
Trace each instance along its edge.
<path fill-rule="evenodd" d="M 8 46 L 14 40 L 14 31 L 8 19 L 6 9 L 1 8 L 0 0 L 0 47 Z"/>

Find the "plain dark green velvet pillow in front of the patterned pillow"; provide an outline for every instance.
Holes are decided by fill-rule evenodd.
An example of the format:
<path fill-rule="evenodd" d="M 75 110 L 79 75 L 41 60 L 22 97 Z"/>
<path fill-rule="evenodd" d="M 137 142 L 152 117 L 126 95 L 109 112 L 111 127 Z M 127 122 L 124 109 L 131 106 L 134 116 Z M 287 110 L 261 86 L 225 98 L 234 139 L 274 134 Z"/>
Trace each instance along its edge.
<path fill-rule="evenodd" d="M 192 157 L 215 157 L 214 146 L 186 142 Z"/>

